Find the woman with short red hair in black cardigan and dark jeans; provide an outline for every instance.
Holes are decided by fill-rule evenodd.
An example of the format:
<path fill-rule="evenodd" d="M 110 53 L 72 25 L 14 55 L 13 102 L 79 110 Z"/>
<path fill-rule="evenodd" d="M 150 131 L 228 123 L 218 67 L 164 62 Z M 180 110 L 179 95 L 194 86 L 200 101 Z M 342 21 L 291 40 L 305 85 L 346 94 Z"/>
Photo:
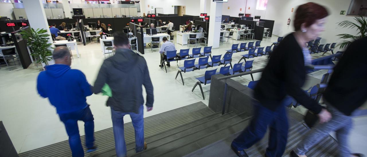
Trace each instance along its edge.
<path fill-rule="evenodd" d="M 274 50 L 261 79 L 254 89 L 254 116 L 246 129 L 233 140 L 232 150 L 240 157 L 248 155 L 244 149 L 261 140 L 270 129 L 269 145 L 265 156 L 281 157 L 286 149 L 288 118 L 283 103 L 286 95 L 319 116 L 320 123 L 327 122 L 331 114 L 302 90 L 306 67 L 311 64 L 307 41 L 315 40 L 324 31 L 328 12 L 316 3 L 306 3 L 296 10 L 295 32 L 284 37 Z M 288 104 L 289 105 L 289 104 Z"/>

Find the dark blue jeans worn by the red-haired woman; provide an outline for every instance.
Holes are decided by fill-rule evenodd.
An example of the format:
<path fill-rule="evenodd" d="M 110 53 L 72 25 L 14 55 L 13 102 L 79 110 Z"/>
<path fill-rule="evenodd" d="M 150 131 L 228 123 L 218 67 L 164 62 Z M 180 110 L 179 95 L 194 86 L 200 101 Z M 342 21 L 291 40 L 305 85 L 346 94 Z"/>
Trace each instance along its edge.
<path fill-rule="evenodd" d="M 288 118 L 285 106 L 280 106 L 272 111 L 262 106 L 259 102 L 254 103 L 254 117 L 250 125 L 232 142 L 232 146 L 238 151 L 248 149 L 261 140 L 269 126 L 269 145 L 265 156 L 281 157 L 286 149 L 288 137 Z"/>

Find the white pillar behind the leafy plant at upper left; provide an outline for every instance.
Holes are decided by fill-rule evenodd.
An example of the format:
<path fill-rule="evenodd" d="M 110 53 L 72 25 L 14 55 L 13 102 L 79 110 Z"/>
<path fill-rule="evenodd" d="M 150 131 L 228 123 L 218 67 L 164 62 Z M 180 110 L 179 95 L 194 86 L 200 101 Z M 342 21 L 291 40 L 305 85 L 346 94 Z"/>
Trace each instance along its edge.
<path fill-rule="evenodd" d="M 48 43 L 52 44 L 52 37 L 50 33 L 50 29 L 48 28 L 47 18 L 45 14 L 45 10 L 43 8 L 43 4 L 41 0 L 24 0 L 24 9 L 27 14 L 28 22 L 31 28 L 36 29 L 45 29 L 47 30 L 47 34 L 49 35 Z"/>

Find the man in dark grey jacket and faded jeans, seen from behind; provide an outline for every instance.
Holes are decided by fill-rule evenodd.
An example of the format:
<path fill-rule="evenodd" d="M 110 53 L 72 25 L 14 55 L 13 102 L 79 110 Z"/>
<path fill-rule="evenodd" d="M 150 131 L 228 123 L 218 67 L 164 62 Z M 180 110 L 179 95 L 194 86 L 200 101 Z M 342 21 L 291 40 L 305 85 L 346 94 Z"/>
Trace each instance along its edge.
<path fill-rule="evenodd" d="M 114 33 L 113 37 L 116 54 L 103 62 L 93 91 L 95 94 L 101 92 L 105 84 L 111 88 L 112 97 L 108 99 L 107 106 L 111 107 L 116 155 L 117 157 L 125 157 L 127 154 L 123 117 L 126 114 L 130 114 L 135 129 L 135 151 L 146 149 L 142 85 L 146 90 L 145 105 L 148 112 L 153 109 L 153 85 L 145 59 L 130 50 L 126 34 L 119 31 Z"/>

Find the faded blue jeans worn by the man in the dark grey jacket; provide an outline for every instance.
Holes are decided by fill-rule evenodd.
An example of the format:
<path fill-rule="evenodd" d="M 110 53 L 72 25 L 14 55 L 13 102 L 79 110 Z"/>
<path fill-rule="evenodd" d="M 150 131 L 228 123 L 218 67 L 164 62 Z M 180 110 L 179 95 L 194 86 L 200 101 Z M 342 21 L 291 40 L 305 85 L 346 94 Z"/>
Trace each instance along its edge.
<path fill-rule="evenodd" d="M 135 130 L 135 151 L 144 150 L 144 119 L 143 105 L 139 107 L 139 114 L 117 112 L 111 108 L 113 136 L 115 136 L 115 148 L 117 157 L 126 157 L 126 143 L 124 137 L 124 116 L 130 114 L 132 126 Z"/>

